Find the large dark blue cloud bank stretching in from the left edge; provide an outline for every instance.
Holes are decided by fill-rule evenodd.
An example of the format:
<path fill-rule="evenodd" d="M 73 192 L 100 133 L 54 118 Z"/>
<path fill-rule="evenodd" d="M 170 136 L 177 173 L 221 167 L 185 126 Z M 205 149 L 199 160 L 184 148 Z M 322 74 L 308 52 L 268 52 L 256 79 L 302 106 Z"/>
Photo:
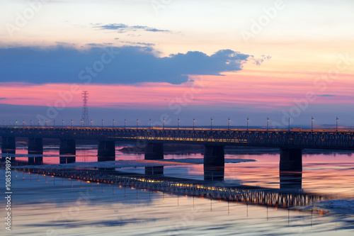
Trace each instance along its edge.
<path fill-rule="evenodd" d="M 16 47 L 0 48 L 0 82 L 181 84 L 188 75 L 220 75 L 242 69 L 253 56 L 233 50 L 213 55 L 187 52 L 157 57 L 152 47 Z"/>

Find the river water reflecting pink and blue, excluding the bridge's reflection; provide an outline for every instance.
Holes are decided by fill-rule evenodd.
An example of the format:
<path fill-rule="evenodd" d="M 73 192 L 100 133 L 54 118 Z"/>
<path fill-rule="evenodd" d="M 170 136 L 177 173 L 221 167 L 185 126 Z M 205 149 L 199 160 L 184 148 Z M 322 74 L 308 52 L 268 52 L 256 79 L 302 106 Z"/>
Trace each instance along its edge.
<path fill-rule="evenodd" d="M 77 150 L 76 165 L 96 162 L 96 154 L 93 148 Z M 121 168 L 116 164 L 117 170 L 144 174 L 143 154 L 119 151 L 116 154 L 115 160 L 125 163 Z M 26 157 L 27 150 L 16 150 L 16 162 L 27 162 Z M 164 176 L 191 181 L 204 179 L 203 165 L 198 164 L 201 154 L 165 154 L 164 158 L 195 160 L 192 164 L 167 164 Z M 280 189 L 279 154 L 227 154 L 225 159 L 224 181 L 218 184 Z M 235 159 L 256 161 L 227 161 Z M 46 149 L 43 164 L 57 167 L 59 151 Z M 86 164 L 79 166 L 85 168 Z M 11 175 L 11 232 L 3 224 L 1 235 L 354 235 L 354 157 L 348 154 L 303 155 L 302 176 L 297 176 L 300 182 L 295 186 L 303 193 L 329 197 L 325 202 L 307 206 L 307 210 L 176 195 L 15 170 Z M 0 178 L 5 186 L 4 168 Z M 3 199 L 1 205 L 5 206 Z M 314 208 L 326 211 L 308 210 Z M 5 214 L 1 207 L 1 215 Z"/>

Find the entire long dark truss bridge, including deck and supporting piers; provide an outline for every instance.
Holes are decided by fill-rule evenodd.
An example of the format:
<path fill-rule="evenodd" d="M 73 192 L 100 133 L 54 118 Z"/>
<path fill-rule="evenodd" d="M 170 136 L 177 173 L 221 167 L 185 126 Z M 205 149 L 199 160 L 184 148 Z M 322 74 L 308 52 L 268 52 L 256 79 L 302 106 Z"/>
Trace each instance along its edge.
<path fill-rule="evenodd" d="M 224 167 L 224 145 L 280 147 L 280 170 L 302 171 L 302 149 L 354 150 L 354 132 L 185 128 L 0 128 L 1 151 L 15 153 L 28 137 L 28 153 L 42 154 L 42 138 L 60 139 L 59 154 L 76 154 L 75 140 L 98 140 L 98 157 L 114 159 L 115 141 L 146 143 L 145 159 L 164 159 L 164 143 L 205 145 L 204 167 Z M 67 159 L 67 162 L 73 161 Z"/>

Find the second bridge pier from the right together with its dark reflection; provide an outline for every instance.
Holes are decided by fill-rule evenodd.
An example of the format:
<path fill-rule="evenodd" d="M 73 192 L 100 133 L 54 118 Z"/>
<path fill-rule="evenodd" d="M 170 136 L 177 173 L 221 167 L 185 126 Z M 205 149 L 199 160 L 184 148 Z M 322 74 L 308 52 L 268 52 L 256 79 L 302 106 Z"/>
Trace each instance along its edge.
<path fill-rule="evenodd" d="M 223 181 L 225 168 L 224 146 L 204 146 L 204 180 Z"/>

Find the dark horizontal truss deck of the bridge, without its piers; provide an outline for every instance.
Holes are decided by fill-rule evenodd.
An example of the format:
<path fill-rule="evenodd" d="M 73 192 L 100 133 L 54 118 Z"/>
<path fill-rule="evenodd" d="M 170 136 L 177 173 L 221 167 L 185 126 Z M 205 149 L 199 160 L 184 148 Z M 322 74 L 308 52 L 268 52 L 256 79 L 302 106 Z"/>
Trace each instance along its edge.
<path fill-rule="evenodd" d="M 14 127 L 0 136 L 354 150 L 352 130 Z"/>

